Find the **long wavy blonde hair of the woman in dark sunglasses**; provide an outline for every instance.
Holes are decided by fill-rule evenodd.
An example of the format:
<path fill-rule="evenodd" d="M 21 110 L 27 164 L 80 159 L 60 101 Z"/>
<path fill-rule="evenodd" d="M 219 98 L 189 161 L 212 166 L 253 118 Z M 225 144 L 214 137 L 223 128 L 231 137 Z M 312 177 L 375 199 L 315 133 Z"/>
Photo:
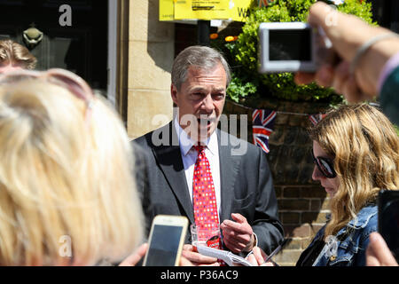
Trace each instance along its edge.
<path fill-rule="evenodd" d="M 399 138 L 376 107 L 340 106 L 310 130 L 310 138 L 334 157 L 339 179 L 325 237 L 338 233 L 360 209 L 375 202 L 379 189 L 399 188 Z"/>

